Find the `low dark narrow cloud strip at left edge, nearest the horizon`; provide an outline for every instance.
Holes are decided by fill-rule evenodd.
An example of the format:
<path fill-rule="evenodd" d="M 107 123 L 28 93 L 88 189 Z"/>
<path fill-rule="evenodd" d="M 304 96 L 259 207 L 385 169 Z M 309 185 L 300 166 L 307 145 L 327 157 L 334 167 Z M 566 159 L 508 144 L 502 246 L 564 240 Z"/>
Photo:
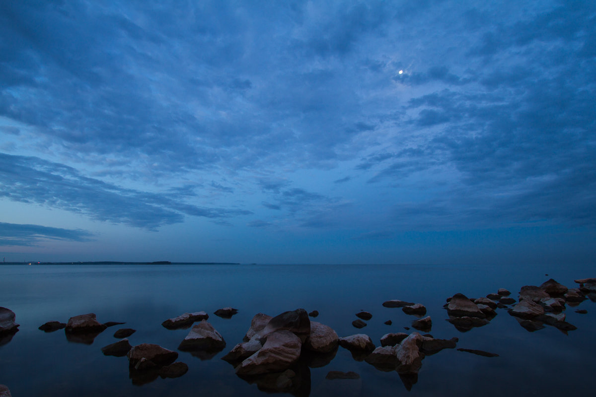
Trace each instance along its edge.
<path fill-rule="evenodd" d="M 0 222 L 0 246 L 35 246 L 45 240 L 86 242 L 93 236 L 81 229 Z"/>

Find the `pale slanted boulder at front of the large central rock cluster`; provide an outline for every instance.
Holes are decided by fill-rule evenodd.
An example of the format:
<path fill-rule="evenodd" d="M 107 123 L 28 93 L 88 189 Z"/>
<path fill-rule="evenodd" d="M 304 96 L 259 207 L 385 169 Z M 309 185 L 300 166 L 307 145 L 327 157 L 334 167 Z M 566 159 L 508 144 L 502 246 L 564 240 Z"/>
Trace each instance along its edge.
<path fill-rule="evenodd" d="M 289 330 L 271 332 L 265 345 L 241 362 L 235 371 L 243 376 L 284 371 L 298 361 L 301 346 L 300 338 Z"/>

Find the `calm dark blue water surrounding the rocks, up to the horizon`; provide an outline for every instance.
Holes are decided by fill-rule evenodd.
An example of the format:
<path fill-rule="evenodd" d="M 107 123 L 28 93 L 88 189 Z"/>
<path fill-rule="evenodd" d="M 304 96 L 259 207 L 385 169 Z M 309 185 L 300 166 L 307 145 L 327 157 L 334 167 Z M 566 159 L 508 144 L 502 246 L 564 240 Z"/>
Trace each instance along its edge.
<path fill-rule="evenodd" d="M 548 274 L 548 276 L 547 276 Z M 577 287 L 574 279 L 596 277 L 594 265 L 0 265 L 0 307 L 16 314 L 20 330 L 0 346 L 0 384 L 14 397 L 25 396 L 264 396 L 259 385 L 234 373 L 221 360 L 242 341 L 254 314 L 305 308 L 319 311 L 315 321 L 339 336 L 365 333 L 380 346 L 390 332 L 414 332 L 416 317 L 383 307 L 389 299 L 421 303 L 433 321 L 436 338 L 458 337 L 457 348 L 498 354 L 482 357 L 444 349 L 423 360 L 418 379 L 383 372 L 349 351 L 320 366 L 300 371 L 298 395 L 311 396 L 560 396 L 589 395 L 596 373 L 596 303 L 589 299 L 567 307 L 567 334 L 555 327 L 529 332 L 504 309 L 486 326 L 467 332 L 448 323 L 445 299 L 455 293 L 478 298 L 506 288 L 517 298 L 524 285 L 550 278 Z M 238 314 L 213 312 L 234 307 Z M 585 309 L 587 314 L 575 311 Z M 214 357 L 179 352 L 189 370 L 176 379 L 158 377 L 136 385 L 126 357 L 104 356 L 101 348 L 117 341 L 121 328 L 137 332 L 132 345 L 157 343 L 176 350 L 188 329 L 167 330 L 162 321 L 204 310 L 226 340 Z M 352 321 L 371 312 L 367 326 Z M 64 330 L 38 330 L 46 321 L 94 312 L 101 323 L 122 321 L 90 344 L 67 340 Z M 384 324 L 392 320 L 392 325 Z M 324 363 L 323 363 L 324 364 Z M 354 371 L 355 380 L 328 380 L 329 371 Z M 287 393 L 285 395 L 288 395 Z"/>

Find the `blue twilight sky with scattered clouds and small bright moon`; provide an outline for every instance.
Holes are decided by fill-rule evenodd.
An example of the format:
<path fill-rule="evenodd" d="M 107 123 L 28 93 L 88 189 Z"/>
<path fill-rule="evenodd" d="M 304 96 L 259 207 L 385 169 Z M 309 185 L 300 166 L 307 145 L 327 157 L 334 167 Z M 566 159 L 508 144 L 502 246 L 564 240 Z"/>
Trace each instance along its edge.
<path fill-rule="evenodd" d="M 6 261 L 596 263 L 596 2 L 0 2 Z"/>

